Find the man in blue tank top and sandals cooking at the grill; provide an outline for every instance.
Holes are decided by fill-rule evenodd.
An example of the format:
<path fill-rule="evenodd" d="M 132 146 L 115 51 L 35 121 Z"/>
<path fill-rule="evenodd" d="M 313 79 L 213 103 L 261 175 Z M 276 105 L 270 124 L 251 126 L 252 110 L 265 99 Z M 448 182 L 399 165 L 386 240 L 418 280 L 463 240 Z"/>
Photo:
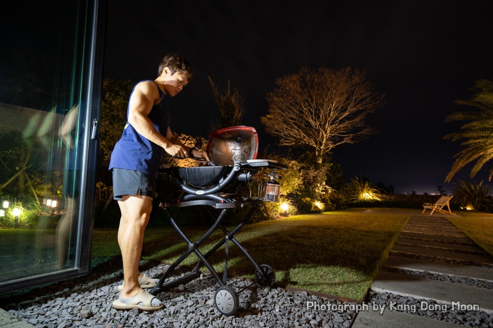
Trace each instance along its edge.
<path fill-rule="evenodd" d="M 130 95 L 128 122 L 109 166 L 113 170 L 113 196 L 121 211 L 118 244 L 124 266 L 124 284 L 113 302 L 116 309 L 154 311 L 163 307 L 159 299 L 143 289 L 154 287 L 156 281 L 142 275 L 138 266 L 163 149 L 176 157 L 209 160 L 205 152 L 183 145 L 169 128 L 164 96 L 176 96 L 191 77 L 188 62 L 178 54 L 168 54 L 159 65 L 158 77 L 140 81 Z"/>

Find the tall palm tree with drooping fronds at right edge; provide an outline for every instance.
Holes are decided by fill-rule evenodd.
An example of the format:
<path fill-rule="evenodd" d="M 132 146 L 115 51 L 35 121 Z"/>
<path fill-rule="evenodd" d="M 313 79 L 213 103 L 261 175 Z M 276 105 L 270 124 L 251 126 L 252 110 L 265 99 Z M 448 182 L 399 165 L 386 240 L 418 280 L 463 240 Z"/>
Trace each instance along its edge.
<path fill-rule="evenodd" d="M 452 177 L 467 164 L 476 160 L 471 169 L 471 178 L 493 157 L 493 82 L 480 79 L 476 81 L 473 90 L 477 93 L 469 100 L 456 100 L 459 105 L 478 108 L 476 111 L 453 113 L 445 119 L 446 122 L 466 121 L 460 131 L 447 134 L 444 139 L 457 141 L 466 146 L 457 153 L 452 169 L 445 181 L 450 182 Z M 489 170 L 488 180 L 493 176 L 493 167 Z"/>

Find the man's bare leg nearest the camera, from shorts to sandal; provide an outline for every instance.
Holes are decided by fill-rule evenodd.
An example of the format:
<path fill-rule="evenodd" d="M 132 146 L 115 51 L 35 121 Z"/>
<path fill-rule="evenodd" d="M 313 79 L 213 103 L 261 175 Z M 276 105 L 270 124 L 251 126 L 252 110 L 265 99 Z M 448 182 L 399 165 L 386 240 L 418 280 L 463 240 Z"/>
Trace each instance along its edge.
<path fill-rule="evenodd" d="M 142 291 L 138 281 L 141 278 L 139 277 L 139 262 L 144 230 L 152 210 L 152 198 L 127 195 L 118 201 L 118 206 L 121 211 L 118 244 L 124 267 L 124 289 L 120 297 L 126 299 Z"/>

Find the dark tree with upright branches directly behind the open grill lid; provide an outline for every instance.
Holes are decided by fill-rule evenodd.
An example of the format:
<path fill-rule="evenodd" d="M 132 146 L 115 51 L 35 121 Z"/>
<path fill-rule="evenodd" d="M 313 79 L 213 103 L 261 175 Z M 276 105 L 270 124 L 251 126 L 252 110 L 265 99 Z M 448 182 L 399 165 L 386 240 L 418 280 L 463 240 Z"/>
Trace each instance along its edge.
<path fill-rule="evenodd" d="M 228 90 L 224 94 L 221 94 L 217 90 L 212 78 L 210 76 L 208 78 L 220 112 L 219 123 L 211 123 L 211 131 L 235 125 L 243 125 L 241 118 L 245 110 L 243 107 L 243 98 L 238 90 L 233 88 L 233 92 L 231 92 L 230 81 L 228 80 Z"/>

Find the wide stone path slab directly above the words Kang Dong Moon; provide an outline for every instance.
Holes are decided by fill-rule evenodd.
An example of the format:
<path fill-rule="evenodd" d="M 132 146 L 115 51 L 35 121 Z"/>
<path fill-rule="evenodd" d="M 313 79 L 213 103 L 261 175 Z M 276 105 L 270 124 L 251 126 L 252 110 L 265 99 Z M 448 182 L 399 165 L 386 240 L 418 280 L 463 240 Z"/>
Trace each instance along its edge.
<path fill-rule="evenodd" d="M 460 302 L 462 306 L 478 306 L 493 314 L 493 290 L 442 282 L 381 271 L 370 287 L 375 292 L 433 299 L 443 304 Z"/>

